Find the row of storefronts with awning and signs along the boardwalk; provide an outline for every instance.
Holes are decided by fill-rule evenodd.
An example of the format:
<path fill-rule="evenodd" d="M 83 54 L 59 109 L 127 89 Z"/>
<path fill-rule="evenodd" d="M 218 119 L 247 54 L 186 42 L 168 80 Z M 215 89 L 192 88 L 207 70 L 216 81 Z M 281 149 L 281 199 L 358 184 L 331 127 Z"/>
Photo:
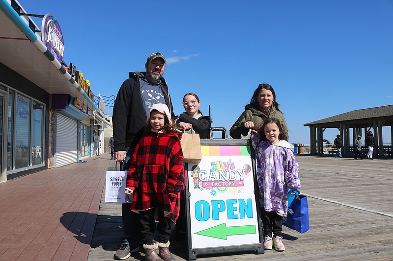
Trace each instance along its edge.
<path fill-rule="evenodd" d="M 109 126 L 83 73 L 63 62 L 56 18 L 37 26 L 24 14 L 0 0 L 0 182 L 99 155 Z"/>

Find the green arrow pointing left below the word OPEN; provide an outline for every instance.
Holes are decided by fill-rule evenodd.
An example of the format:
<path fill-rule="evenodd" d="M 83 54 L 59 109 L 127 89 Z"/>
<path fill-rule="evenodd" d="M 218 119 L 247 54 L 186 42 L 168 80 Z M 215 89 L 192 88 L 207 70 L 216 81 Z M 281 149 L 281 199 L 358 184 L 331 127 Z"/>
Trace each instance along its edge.
<path fill-rule="evenodd" d="M 255 233 L 256 233 L 255 225 L 227 227 L 226 223 L 223 223 L 221 225 L 217 225 L 199 231 L 195 234 L 226 240 L 227 236 L 246 235 L 246 234 L 255 234 Z"/>

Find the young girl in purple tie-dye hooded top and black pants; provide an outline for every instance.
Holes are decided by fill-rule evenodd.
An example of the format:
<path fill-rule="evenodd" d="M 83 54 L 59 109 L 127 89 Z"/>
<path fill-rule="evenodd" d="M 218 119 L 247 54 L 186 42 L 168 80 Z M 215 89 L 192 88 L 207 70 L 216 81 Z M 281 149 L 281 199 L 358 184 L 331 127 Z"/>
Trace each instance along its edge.
<path fill-rule="evenodd" d="M 263 245 L 284 251 L 281 239 L 282 217 L 288 209 L 288 189 L 300 189 L 299 165 L 293 155 L 293 145 L 282 140 L 282 128 L 278 119 L 266 119 L 259 133 L 252 132 L 255 149 L 256 175 L 260 190 L 263 226 Z M 273 242 L 272 242 L 273 241 Z M 273 246 L 272 246 L 273 244 Z"/>

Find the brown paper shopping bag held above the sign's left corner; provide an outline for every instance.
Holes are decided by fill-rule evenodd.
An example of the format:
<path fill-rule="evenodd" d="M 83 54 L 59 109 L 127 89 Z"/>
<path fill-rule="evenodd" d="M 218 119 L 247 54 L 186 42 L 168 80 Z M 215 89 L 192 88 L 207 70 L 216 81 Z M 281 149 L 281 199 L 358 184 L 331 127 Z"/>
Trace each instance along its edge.
<path fill-rule="evenodd" d="M 200 139 L 197 133 L 183 133 L 181 138 L 184 161 L 187 163 L 199 163 L 202 159 L 200 151 Z"/>

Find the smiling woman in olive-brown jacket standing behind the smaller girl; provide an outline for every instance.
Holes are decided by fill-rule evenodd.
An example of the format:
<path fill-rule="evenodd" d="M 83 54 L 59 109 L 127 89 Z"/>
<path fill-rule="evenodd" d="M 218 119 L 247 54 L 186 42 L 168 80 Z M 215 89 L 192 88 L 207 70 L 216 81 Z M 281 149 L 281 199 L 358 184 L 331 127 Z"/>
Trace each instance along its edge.
<path fill-rule="evenodd" d="M 254 91 L 250 104 L 246 105 L 242 115 L 230 128 L 229 134 L 233 139 L 241 139 L 242 135 L 247 136 L 249 129 L 259 131 L 263 121 L 271 118 L 280 120 L 282 139 L 288 141 L 288 126 L 276 101 L 276 93 L 272 86 L 262 83 Z"/>

